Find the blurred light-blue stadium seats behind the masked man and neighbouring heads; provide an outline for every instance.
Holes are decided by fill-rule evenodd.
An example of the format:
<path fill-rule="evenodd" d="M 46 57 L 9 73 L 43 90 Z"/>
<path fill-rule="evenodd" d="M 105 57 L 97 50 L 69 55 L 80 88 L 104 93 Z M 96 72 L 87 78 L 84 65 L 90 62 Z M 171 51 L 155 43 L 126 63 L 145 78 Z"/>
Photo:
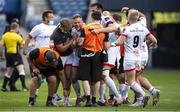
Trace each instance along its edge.
<path fill-rule="evenodd" d="M 34 0 L 33 0 L 34 1 Z M 40 2 L 40 1 L 39 1 Z M 48 8 L 52 9 L 56 15 L 54 24 L 57 25 L 61 18 L 71 19 L 74 14 L 81 14 L 86 20 L 89 8 L 89 0 L 48 0 Z M 47 10 L 46 9 L 46 10 Z M 41 18 L 31 18 L 28 20 L 28 29 L 39 24 Z"/>

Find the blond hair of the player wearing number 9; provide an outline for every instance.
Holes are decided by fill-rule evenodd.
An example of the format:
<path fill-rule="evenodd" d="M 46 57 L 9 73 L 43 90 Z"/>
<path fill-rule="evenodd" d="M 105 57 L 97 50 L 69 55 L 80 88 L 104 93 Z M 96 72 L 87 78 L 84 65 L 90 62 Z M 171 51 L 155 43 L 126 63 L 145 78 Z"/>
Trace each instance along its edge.
<path fill-rule="evenodd" d="M 139 19 L 139 11 L 135 9 L 129 10 L 128 19 L 130 21 L 137 21 Z"/>

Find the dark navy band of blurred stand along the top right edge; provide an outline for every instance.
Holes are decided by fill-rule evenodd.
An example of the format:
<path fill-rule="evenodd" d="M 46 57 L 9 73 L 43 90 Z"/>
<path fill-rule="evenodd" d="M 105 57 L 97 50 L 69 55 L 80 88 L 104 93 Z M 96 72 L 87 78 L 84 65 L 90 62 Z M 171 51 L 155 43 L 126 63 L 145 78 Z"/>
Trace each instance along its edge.
<path fill-rule="evenodd" d="M 104 9 L 110 11 L 120 11 L 124 6 L 143 12 L 180 11 L 180 0 L 98 0 L 98 2 L 104 6 Z"/>

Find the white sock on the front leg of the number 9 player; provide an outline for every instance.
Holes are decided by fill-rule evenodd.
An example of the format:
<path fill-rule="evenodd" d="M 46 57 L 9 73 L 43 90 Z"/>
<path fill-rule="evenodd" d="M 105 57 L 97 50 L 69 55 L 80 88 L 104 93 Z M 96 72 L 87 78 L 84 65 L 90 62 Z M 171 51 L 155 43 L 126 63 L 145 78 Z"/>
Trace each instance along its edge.
<path fill-rule="evenodd" d="M 146 95 L 146 93 L 145 93 L 144 90 L 141 88 L 141 86 L 140 86 L 138 83 L 136 83 L 136 82 L 133 82 L 133 83 L 131 84 L 131 88 L 132 88 L 135 92 L 140 93 L 142 96 L 145 96 L 145 95 Z"/>

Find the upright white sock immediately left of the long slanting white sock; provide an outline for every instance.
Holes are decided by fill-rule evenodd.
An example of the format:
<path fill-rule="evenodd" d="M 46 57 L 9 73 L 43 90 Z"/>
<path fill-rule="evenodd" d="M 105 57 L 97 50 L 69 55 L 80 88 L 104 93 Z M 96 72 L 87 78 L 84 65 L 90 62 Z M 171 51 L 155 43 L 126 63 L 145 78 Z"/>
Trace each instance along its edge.
<path fill-rule="evenodd" d="M 100 94 L 99 101 L 102 103 L 105 102 L 105 99 L 104 99 L 105 91 L 106 91 L 106 84 L 104 83 L 100 85 L 100 89 L 99 89 L 99 94 Z"/>

